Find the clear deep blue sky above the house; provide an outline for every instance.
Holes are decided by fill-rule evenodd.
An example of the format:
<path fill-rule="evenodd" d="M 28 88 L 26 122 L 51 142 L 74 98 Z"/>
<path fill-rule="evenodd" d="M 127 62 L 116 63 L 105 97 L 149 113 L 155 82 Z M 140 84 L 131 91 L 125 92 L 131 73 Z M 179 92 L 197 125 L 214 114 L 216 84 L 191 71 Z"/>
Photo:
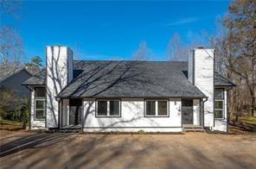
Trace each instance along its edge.
<path fill-rule="evenodd" d="M 22 1 L 19 19 L 3 15 L 1 26 L 15 27 L 21 34 L 27 59 L 40 56 L 45 61 L 45 47 L 53 45 L 70 47 L 76 59 L 131 59 L 145 41 L 151 59 L 168 60 L 173 34 L 180 34 L 186 44 L 202 41 L 202 34 L 216 34 L 216 23 L 229 3 Z"/>

